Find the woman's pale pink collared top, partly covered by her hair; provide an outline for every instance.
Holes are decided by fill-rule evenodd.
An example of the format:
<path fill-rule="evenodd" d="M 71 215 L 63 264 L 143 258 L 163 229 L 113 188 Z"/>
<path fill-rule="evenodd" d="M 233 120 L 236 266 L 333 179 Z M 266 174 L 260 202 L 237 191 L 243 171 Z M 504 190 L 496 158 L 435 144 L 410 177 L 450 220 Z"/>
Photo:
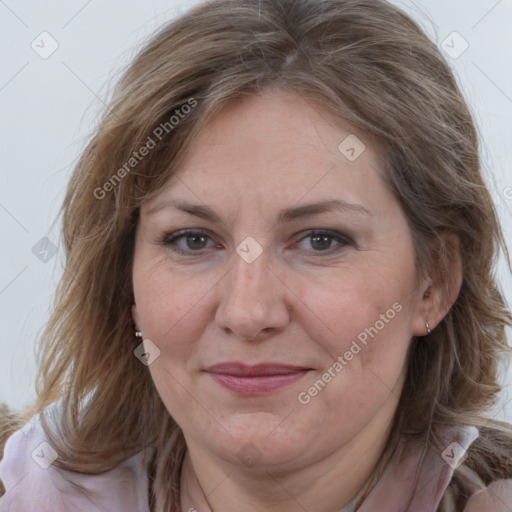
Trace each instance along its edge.
<path fill-rule="evenodd" d="M 436 512 L 453 468 L 478 437 L 478 430 L 452 427 L 445 435 L 447 449 L 442 455 L 427 452 L 415 490 L 421 448 L 401 444 L 358 512 Z M 0 498 L 0 512 L 149 512 L 142 452 L 101 475 L 60 470 L 51 464 L 55 456 L 39 416 L 9 437 L 0 462 L 0 480 L 6 488 Z M 86 495 L 81 489 L 93 492 Z M 412 503 L 406 509 L 413 492 Z M 493 482 L 477 491 L 464 508 L 464 512 L 484 511 L 512 511 L 512 479 Z"/>

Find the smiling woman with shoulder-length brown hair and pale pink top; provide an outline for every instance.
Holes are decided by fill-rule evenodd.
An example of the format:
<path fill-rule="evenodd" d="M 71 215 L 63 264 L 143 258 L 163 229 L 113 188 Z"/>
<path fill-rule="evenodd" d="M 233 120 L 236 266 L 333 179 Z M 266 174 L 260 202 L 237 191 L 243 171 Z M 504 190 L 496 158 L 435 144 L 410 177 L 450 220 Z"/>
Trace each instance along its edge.
<path fill-rule="evenodd" d="M 396 7 L 217 0 L 164 27 L 63 232 L 0 510 L 512 510 L 485 415 L 506 247 L 462 95 Z"/>

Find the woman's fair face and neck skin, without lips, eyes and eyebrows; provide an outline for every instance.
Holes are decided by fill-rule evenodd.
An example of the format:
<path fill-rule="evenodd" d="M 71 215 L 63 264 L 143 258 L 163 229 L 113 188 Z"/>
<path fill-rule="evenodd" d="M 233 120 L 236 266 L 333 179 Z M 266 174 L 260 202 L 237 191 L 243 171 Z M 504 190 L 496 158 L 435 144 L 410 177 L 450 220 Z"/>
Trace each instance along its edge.
<path fill-rule="evenodd" d="M 447 311 L 430 279 L 416 280 L 410 229 L 384 184 L 378 149 L 359 135 L 366 150 L 355 161 L 338 150 L 354 133 L 300 96 L 267 90 L 212 119 L 176 177 L 141 207 L 132 314 L 160 350 L 148 368 L 187 442 L 183 510 L 339 511 L 384 449 L 408 348 L 421 342 L 413 337 Z M 208 205 L 220 221 L 173 206 L 150 213 L 178 199 Z M 278 222 L 281 209 L 326 199 L 370 215 Z M 207 236 L 161 243 L 183 229 Z M 352 241 L 331 237 L 325 248 L 308 236 L 313 229 Z M 236 251 L 248 236 L 262 248 L 252 263 Z M 298 394 L 396 303 L 401 311 L 300 403 Z M 278 391 L 242 396 L 203 371 L 223 361 L 311 370 Z M 237 456 L 247 443 L 260 457 L 251 467 Z"/>

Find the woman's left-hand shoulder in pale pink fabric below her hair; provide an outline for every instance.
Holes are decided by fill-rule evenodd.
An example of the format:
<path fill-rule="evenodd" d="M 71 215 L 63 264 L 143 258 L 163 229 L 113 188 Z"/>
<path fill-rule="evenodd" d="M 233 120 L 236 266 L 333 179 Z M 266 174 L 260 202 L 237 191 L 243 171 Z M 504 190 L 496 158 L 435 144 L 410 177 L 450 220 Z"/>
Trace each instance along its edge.
<path fill-rule="evenodd" d="M 39 415 L 12 434 L 0 461 L 0 480 L 6 492 L 0 512 L 38 510 L 123 510 L 148 512 L 147 477 L 141 454 L 99 475 L 57 467 L 57 452 L 48 442 Z"/>

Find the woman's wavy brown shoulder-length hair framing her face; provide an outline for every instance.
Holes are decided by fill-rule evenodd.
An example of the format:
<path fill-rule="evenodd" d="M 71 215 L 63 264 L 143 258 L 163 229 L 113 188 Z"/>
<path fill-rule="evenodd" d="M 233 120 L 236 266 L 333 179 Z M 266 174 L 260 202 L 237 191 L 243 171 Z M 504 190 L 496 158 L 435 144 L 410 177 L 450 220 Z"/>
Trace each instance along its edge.
<path fill-rule="evenodd" d="M 183 435 L 133 355 L 138 208 L 173 176 L 208 119 L 268 86 L 301 94 L 383 148 L 418 276 L 448 287 L 456 254 L 442 234 L 459 241 L 460 293 L 432 334 L 413 340 L 382 460 L 399 436 L 439 449 L 436 425 L 479 427 L 442 507 L 448 495 L 462 503 L 476 480 L 512 475 L 512 430 L 485 417 L 500 390 L 499 354 L 509 350 L 512 317 L 493 274 L 500 247 L 508 253 L 454 76 L 419 26 L 382 0 L 211 0 L 163 27 L 131 63 L 62 207 L 66 269 L 41 340 L 34 405 L 42 412 L 62 400 L 53 427 L 43 417 L 55 464 L 101 473 L 153 448 L 152 509 L 179 510 Z M 174 125 L 176 111 L 188 113 Z M 126 166 L 148 138 L 156 142 L 149 154 Z"/>

